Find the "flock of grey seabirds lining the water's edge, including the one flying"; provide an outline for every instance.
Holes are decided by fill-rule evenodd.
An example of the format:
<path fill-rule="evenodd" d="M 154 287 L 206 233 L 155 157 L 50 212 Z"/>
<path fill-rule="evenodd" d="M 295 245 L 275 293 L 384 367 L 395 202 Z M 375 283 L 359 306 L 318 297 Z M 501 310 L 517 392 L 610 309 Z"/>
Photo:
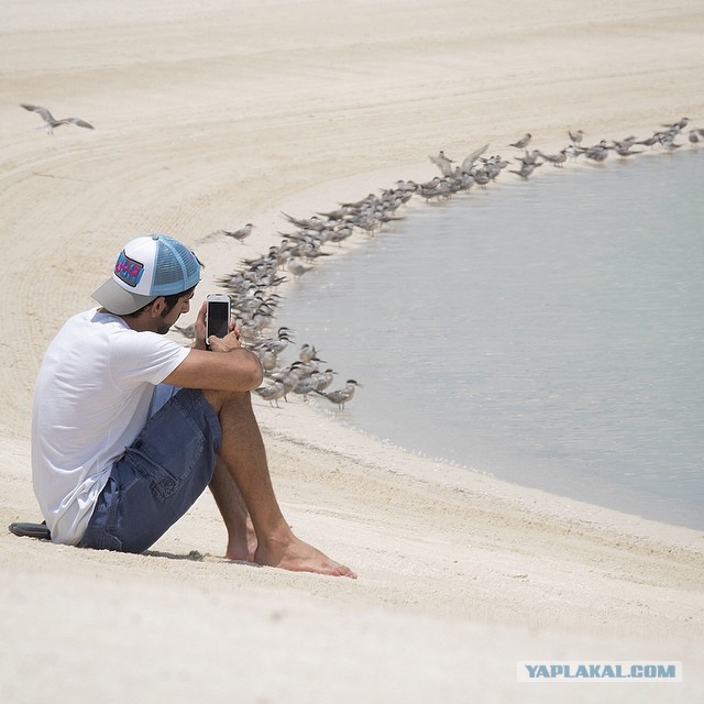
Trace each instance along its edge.
<path fill-rule="evenodd" d="M 94 129 L 78 118 L 56 120 L 46 108 L 26 103 L 21 107 L 37 113 L 48 133 L 64 124 Z M 268 337 L 275 327 L 276 309 L 283 300 L 276 288 L 289 276 L 297 279 L 305 275 L 355 232 L 374 235 L 387 223 L 399 219 L 402 216 L 397 211 L 411 198 L 444 200 L 455 194 L 466 193 L 474 186 L 486 188 L 505 169 L 528 179 L 543 164 L 561 168 L 568 161 L 579 158 L 602 163 L 610 153 L 618 158 L 627 158 L 652 147 L 672 152 L 685 144 L 682 139 L 689 123 L 688 118 L 682 118 L 678 122 L 660 125 L 661 129 L 646 139 L 630 135 L 618 141 L 602 140 L 590 146 L 583 145 L 585 134 L 582 130 L 570 131 L 569 144 L 554 154 L 546 154 L 540 150 L 528 151 L 532 141 L 530 133 L 507 144 L 507 147 L 522 152 L 510 158 L 501 155 L 485 156 L 488 144 L 473 151 L 460 163 L 440 151 L 438 155 L 429 156 L 438 166 L 440 175 L 428 182 L 418 184 L 398 180 L 393 187 L 382 189 L 378 194 L 340 204 L 334 210 L 318 212 L 309 218 L 282 213 L 290 231 L 278 232 L 280 243 L 257 257 L 242 260 L 235 272 L 218 282 L 230 295 L 243 344 L 257 354 L 262 362 L 267 383 L 255 389 L 256 393 L 275 407 L 278 407 L 282 398 L 288 400 L 288 395 L 298 395 L 304 399 L 314 395 L 343 409 L 352 400 L 355 389 L 362 386 L 349 378 L 340 388 L 330 391 L 337 372 L 329 366 L 323 369 L 327 363 L 318 356 L 314 345 L 302 344 L 297 359 L 290 364 L 284 364 L 283 355 L 293 345 L 294 330 L 279 327 L 274 336 Z M 704 141 L 704 129 L 689 129 L 686 139 L 691 145 L 697 146 Z M 514 162 L 515 168 L 508 168 Z M 239 230 L 218 230 L 211 237 L 230 238 L 242 243 L 252 234 L 252 223 L 246 223 Z M 194 336 L 194 326 L 177 329 L 186 337 Z"/>

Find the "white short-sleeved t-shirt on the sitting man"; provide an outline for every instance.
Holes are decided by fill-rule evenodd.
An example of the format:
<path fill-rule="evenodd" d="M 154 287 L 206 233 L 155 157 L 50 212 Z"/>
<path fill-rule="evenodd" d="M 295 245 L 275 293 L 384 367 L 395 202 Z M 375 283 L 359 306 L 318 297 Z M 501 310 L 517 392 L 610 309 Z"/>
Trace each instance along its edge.
<path fill-rule="evenodd" d="M 98 309 L 50 344 L 32 409 L 32 479 L 52 540 L 77 544 L 116 460 L 144 427 L 152 394 L 189 350 Z"/>

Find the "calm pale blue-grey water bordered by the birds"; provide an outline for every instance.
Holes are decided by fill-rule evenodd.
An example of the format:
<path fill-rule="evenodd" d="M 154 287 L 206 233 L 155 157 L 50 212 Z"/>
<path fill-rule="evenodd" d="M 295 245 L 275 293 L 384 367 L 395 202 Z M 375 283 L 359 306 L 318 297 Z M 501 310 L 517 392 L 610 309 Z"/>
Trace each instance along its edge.
<path fill-rule="evenodd" d="M 333 387 L 364 384 L 320 405 L 342 422 L 704 528 L 704 154 L 542 169 L 416 201 L 306 274 L 279 320 Z"/>

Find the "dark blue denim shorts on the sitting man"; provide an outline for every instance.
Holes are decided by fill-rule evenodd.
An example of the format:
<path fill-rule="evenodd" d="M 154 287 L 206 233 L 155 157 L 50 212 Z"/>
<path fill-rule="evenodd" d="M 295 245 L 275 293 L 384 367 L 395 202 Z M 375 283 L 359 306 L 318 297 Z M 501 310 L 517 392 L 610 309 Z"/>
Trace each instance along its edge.
<path fill-rule="evenodd" d="M 112 465 L 79 546 L 144 552 L 208 486 L 221 437 L 202 392 L 177 391 Z"/>

